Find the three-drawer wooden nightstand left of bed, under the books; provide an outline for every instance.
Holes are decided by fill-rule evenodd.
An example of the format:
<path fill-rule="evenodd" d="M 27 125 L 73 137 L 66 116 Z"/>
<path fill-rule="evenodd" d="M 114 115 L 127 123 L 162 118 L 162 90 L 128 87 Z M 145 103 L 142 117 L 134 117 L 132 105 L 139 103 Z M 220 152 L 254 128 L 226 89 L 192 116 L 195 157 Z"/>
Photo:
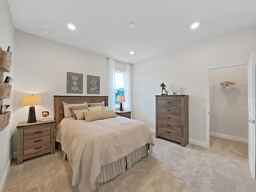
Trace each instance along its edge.
<path fill-rule="evenodd" d="M 17 134 L 17 165 L 28 158 L 55 153 L 55 120 L 20 122 Z"/>

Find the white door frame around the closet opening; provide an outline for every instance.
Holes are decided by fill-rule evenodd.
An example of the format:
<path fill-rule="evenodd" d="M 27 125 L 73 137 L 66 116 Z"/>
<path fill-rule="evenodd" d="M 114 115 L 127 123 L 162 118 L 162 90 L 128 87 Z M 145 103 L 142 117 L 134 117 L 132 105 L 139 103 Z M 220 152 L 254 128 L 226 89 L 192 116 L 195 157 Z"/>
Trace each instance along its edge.
<path fill-rule="evenodd" d="M 205 148 L 210 148 L 210 70 L 247 65 L 248 61 L 206 67 L 205 70 Z"/>

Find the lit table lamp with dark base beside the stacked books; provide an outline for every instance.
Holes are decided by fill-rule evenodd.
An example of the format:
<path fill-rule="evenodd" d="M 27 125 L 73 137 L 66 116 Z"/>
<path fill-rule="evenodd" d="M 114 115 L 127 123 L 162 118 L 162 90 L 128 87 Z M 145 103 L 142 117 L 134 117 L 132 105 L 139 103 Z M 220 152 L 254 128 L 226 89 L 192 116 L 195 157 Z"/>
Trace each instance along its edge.
<path fill-rule="evenodd" d="M 28 112 L 28 123 L 36 122 L 35 105 L 42 105 L 41 95 L 22 95 L 22 106 L 30 106 Z"/>

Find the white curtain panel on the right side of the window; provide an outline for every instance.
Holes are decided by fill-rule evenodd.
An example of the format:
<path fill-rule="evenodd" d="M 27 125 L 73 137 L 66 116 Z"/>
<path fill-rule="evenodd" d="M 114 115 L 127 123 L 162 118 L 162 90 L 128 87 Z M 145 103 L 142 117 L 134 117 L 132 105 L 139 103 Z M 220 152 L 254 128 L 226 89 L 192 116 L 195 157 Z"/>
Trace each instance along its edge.
<path fill-rule="evenodd" d="M 132 111 L 132 98 L 131 98 L 131 66 L 125 64 L 125 110 Z"/>

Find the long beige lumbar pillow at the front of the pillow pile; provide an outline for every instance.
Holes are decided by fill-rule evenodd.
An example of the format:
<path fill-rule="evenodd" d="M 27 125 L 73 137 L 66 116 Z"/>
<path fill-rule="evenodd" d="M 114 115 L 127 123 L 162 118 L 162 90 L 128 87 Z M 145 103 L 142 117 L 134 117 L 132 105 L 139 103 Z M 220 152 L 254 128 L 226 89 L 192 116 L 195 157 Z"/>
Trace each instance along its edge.
<path fill-rule="evenodd" d="M 116 113 L 112 109 L 88 111 L 84 113 L 86 122 L 91 122 L 99 119 L 107 119 L 117 117 Z"/>

